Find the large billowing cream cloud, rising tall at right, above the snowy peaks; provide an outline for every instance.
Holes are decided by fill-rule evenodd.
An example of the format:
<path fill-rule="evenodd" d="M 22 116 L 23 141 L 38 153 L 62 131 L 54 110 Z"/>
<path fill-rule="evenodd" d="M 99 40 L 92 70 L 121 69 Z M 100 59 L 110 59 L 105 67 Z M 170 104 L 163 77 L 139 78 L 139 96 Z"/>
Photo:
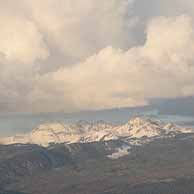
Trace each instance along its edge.
<path fill-rule="evenodd" d="M 42 98 L 39 107 L 51 102 L 52 110 L 81 110 L 191 95 L 193 53 L 193 20 L 158 17 L 149 23 L 144 45 L 127 51 L 106 47 L 84 62 L 41 75 L 30 96 L 37 102 Z"/>

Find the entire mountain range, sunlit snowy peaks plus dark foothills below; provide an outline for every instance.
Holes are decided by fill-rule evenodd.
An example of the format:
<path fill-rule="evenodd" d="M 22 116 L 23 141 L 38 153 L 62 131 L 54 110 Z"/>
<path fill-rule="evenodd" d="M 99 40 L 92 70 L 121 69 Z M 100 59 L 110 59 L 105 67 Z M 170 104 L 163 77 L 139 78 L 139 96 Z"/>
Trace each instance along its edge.
<path fill-rule="evenodd" d="M 172 123 L 45 123 L 0 141 L 0 194 L 194 193 L 194 130 Z"/>

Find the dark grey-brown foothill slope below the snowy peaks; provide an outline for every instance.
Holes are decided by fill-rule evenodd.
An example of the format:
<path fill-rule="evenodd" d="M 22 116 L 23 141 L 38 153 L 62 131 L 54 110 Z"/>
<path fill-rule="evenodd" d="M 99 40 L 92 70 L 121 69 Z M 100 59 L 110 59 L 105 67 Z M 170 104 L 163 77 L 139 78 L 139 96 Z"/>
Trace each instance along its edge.
<path fill-rule="evenodd" d="M 193 193 L 193 134 L 130 145 L 128 155 L 107 157 L 123 145 L 125 139 L 0 146 L 1 188 L 27 194 Z"/>

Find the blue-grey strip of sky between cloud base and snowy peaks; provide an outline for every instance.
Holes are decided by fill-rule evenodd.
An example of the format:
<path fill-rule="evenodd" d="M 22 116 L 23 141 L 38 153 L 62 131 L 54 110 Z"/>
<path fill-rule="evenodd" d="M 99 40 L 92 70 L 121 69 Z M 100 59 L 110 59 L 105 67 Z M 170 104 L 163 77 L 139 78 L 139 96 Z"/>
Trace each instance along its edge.
<path fill-rule="evenodd" d="M 2 114 L 0 135 L 11 136 L 30 132 L 45 122 L 75 123 L 79 120 L 96 122 L 105 120 L 112 124 L 124 124 L 130 118 L 141 117 L 173 122 L 177 125 L 194 127 L 194 100 L 192 97 L 150 100 L 150 105 L 135 108 L 115 108 L 75 113 Z"/>

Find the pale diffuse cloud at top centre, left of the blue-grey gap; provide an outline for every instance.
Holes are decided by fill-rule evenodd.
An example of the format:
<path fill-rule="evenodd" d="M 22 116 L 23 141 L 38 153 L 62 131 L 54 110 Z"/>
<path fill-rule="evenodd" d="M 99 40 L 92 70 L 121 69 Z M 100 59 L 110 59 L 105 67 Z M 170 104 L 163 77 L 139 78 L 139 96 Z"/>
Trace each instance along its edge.
<path fill-rule="evenodd" d="M 137 19 L 129 17 L 133 0 L 24 0 L 49 44 L 66 57 L 83 59 L 111 45 L 133 42 L 130 31 Z"/>

